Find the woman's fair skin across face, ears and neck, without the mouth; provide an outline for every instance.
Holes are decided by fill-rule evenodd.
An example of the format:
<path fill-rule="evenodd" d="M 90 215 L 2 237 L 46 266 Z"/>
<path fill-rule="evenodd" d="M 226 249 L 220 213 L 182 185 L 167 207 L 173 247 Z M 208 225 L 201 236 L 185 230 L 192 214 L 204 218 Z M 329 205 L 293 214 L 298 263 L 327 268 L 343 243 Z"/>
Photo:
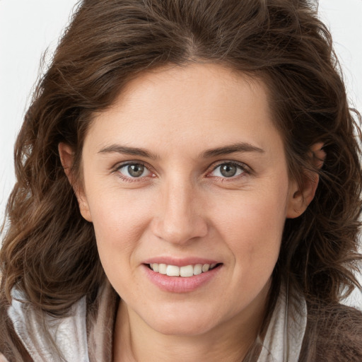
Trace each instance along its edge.
<path fill-rule="evenodd" d="M 59 153 L 74 183 L 71 148 L 59 144 Z M 131 177 L 125 162 L 146 171 Z M 237 173 L 225 177 L 219 166 L 230 162 Z M 82 167 L 81 214 L 122 298 L 114 361 L 240 361 L 264 317 L 284 222 L 317 187 L 317 177 L 303 190 L 288 177 L 264 84 L 216 64 L 143 74 L 95 115 Z M 222 265 L 196 290 L 171 293 L 145 277 L 144 260 L 159 256 Z"/>

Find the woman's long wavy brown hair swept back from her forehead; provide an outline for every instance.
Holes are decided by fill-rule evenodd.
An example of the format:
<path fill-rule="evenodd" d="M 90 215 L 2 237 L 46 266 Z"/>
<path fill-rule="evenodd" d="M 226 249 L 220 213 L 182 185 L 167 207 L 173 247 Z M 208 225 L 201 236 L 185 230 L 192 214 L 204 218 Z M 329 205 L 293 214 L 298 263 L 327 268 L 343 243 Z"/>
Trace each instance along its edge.
<path fill-rule="evenodd" d="M 16 185 L 0 252 L 1 299 L 11 289 L 63 315 L 92 298 L 104 273 L 91 223 L 78 211 L 57 145 L 81 151 L 96 111 L 141 72 L 214 62 L 264 81 L 284 137 L 291 177 L 320 174 L 307 211 L 286 220 L 274 280 L 334 303 L 358 284 L 353 271 L 361 209 L 360 134 L 346 100 L 331 36 L 307 0 L 84 0 L 37 85 L 15 147 Z M 355 112 L 355 119 L 359 115 Z M 321 170 L 310 146 L 322 142 Z M 0 317 L 1 320 L 1 317 Z"/>

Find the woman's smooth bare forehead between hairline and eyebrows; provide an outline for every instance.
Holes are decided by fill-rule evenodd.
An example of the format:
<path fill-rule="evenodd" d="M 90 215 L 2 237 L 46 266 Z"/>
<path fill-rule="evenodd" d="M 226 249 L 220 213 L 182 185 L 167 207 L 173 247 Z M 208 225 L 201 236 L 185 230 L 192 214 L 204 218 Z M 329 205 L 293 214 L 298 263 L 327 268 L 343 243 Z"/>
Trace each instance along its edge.
<path fill-rule="evenodd" d="M 98 143 L 98 148 L 119 141 L 196 152 L 240 142 L 267 149 L 273 138 L 280 141 L 264 83 L 218 64 L 168 66 L 141 74 L 110 108 L 95 115 L 89 133 L 88 143 Z"/>

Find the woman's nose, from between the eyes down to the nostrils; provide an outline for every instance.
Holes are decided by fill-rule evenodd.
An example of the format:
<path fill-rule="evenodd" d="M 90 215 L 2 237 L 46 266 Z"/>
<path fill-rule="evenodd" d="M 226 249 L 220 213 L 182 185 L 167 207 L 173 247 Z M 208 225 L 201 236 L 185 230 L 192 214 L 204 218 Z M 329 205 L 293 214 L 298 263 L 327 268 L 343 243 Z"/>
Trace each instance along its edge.
<path fill-rule="evenodd" d="M 168 182 L 161 193 L 152 222 L 154 235 L 183 245 L 207 234 L 200 194 L 191 182 Z"/>

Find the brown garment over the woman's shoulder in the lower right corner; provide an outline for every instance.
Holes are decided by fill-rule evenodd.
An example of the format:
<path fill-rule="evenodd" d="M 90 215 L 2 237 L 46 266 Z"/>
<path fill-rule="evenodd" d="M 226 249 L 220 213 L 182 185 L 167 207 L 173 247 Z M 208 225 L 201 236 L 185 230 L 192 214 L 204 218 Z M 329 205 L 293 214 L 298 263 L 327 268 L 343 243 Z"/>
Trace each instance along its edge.
<path fill-rule="evenodd" d="M 362 312 L 341 304 L 308 303 L 300 361 L 362 361 Z M 313 357 L 312 357 L 313 356 Z"/>

